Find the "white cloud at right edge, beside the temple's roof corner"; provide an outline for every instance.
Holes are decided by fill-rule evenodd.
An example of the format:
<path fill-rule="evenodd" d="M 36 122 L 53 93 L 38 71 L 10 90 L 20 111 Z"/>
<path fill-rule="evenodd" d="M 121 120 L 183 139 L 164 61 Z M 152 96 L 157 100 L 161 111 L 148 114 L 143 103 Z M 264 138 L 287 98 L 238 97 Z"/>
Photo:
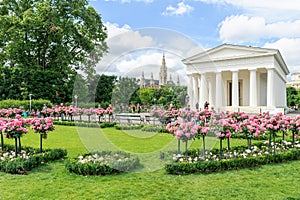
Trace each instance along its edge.
<path fill-rule="evenodd" d="M 291 72 L 300 70 L 300 38 L 281 38 L 276 42 L 268 42 L 266 48 L 278 49 Z"/>

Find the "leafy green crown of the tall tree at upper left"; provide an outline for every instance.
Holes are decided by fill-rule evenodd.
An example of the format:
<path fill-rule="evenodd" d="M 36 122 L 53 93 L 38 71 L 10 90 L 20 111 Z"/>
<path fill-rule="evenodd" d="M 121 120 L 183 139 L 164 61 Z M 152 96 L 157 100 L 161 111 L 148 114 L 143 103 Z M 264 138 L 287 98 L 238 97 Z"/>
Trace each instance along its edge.
<path fill-rule="evenodd" d="M 106 51 L 106 28 L 86 0 L 0 2 L 0 63 L 68 72 Z M 93 51 L 97 49 L 97 51 Z"/>

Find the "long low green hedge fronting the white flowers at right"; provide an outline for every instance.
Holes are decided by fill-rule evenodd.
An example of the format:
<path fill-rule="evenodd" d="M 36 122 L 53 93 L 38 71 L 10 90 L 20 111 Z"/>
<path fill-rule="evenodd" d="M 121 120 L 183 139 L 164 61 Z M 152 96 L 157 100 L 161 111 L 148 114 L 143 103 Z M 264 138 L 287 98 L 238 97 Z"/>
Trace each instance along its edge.
<path fill-rule="evenodd" d="M 224 170 L 251 168 L 271 163 L 282 163 L 299 159 L 300 150 L 292 149 L 286 152 L 268 154 L 266 156 L 258 157 L 233 158 L 220 161 L 198 161 L 193 163 L 174 162 L 166 164 L 165 169 L 169 174 L 208 173 Z"/>

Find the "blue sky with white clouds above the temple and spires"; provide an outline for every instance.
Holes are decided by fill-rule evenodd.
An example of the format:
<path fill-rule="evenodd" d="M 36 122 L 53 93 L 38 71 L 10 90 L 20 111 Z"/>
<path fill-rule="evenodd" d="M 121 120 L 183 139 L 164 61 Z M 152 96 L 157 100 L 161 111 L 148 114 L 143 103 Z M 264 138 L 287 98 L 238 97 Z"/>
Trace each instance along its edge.
<path fill-rule="evenodd" d="M 278 49 L 300 71 L 298 0 L 90 0 L 107 27 L 109 53 L 98 73 L 158 79 L 162 55 L 173 81 L 182 59 L 228 43 Z M 168 75 L 169 79 L 169 75 Z"/>

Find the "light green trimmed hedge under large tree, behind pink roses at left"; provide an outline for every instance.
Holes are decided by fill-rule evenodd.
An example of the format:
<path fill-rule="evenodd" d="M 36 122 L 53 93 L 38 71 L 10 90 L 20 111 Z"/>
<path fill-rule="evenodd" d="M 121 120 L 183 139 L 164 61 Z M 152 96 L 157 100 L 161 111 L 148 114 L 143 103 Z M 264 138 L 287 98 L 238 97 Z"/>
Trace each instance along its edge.
<path fill-rule="evenodd" d="M 0 101 L 0 108 L 19 108 L 20 106 L 23 106 L 25 110 L 29 110 L 30 107 L 29 100 L 3 100 Z M 31 109 L 34 110 L 42 110 L 43 105 L 46 104 L 47 107 L 52 107 L 52 103 L 49 100 L 31 100 Z"/>

